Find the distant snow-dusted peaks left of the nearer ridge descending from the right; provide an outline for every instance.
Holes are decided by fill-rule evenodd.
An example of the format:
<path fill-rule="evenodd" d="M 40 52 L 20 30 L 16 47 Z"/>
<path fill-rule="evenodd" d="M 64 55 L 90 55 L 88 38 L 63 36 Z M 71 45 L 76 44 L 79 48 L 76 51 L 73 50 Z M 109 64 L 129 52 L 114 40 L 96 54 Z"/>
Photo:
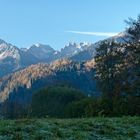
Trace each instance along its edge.
<path fill-rule="evenodd" d="M 72 57 L 90 47 L 89 43 L 69 43 L 60 51 L 49 45 L 35 44 L 30 48 L 18 48 L 0 40 L 0 77 L 40 62 L 50 63 L 60 58 Z"/>

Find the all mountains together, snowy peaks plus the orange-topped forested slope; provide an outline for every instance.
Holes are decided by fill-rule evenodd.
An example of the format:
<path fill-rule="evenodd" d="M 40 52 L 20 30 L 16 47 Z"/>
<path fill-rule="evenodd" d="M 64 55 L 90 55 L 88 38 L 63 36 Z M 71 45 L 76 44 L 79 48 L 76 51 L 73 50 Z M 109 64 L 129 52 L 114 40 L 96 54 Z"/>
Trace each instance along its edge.
<path fill-rule="evenodd" d="M 106 40 L 123 43 L 128 39 L 123 32 Z M 44 44 L 19 49 L 0 40 L 0 102 L 28 103 L 35 91 L 63 84 L 98 96 L 94 56 L 101 42 L 69 43 L 57 51 Z"/>

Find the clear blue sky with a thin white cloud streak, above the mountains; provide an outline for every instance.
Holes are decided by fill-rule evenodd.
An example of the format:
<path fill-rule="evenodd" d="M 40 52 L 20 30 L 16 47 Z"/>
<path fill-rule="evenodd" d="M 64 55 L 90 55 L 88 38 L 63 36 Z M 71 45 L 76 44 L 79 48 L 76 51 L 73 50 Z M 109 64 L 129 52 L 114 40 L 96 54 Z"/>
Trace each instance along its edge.
<path fill-rule="evenodd" d="M 0 0 L 0 38 L 18 47 L 60 49 L 121 32 L 124 20 L 138 14 L 140 0 Z"/>

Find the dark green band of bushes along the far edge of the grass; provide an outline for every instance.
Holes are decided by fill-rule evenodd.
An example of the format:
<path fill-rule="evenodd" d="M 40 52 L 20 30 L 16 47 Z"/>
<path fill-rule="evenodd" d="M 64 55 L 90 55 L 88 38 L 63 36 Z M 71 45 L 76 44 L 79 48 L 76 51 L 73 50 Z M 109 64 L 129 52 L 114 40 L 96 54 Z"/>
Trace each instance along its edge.
<path fill-rule="evenodd" d="M 53 117 L 121 117 L 140 115 L 140 97 L 113 98 L 88 97 L 83 92 L 68 86 L 52 86 L 33 94 L 28 106 L 4 104 L 4 118 Z"/>

